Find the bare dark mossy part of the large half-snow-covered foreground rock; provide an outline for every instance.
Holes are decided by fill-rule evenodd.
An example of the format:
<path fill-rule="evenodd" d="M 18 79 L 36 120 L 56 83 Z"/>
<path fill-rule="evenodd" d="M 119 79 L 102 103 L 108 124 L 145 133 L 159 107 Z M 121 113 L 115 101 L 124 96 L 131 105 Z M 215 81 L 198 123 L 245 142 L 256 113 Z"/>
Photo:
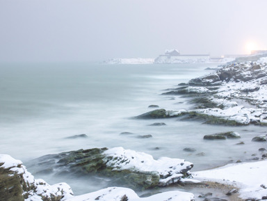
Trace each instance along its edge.
<path fill-rule="evenodd" d="M 72 175 L 74 177 L 87 177 L 98 175 L 99 177 L 112 177 L 112 185 L 115 183 L 134 189 L 154 188 L 155 186 L 165 186 L 172 183 L 170 181 L 167 184 L 163 183 L 161 179 L 167 178 L 168 175 L 161 175 L 156 171 L 149 172 L 138 170 L 138 168 L 116 168 L 120 163 L 125 165 L 131 160 L 135 160 L 135 156 L 132 155 L 131 158 L 127 155 L 118 154 L 106 156 L 106 150 L 108 149 L 94 148 L 51 154 L 35 159 L 31 161 L 29 165 L 35 166 L 35 169 L 40 170 L 40 172 L 50 172 L 52 175 L 57 176 Z M 140 164 L 144 162 L 145 161 L 140 161 Z M 181 175 L 179 177 L 183 175 L 183 177 L 188 177 L 188 170 L 193 168 L 193 164 L 186 161 L 181 164 L 175 164 L 175 166 L 183 167 L 180 170 Z M 170 168 L 170 170 L 172 170 L 172 168 Z M 175 181 L 178 182 L 179 179 Z"/>

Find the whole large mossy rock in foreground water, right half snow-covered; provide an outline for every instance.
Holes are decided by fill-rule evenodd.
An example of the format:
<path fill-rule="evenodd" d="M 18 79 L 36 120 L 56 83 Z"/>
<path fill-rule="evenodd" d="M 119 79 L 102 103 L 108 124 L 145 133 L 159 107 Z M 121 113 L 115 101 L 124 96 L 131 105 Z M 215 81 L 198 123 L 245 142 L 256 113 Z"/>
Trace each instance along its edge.
<path fill-rule="evenodd" d="M 193 163 L 168 157 L 154 160 L 143 152 L 114 147 L 42 156 L 33 160 L 31 166 L 51 174 L 97 174 L 113 178 L 113 183 L 145 189 L 168 186 L 190 177 Z"/>

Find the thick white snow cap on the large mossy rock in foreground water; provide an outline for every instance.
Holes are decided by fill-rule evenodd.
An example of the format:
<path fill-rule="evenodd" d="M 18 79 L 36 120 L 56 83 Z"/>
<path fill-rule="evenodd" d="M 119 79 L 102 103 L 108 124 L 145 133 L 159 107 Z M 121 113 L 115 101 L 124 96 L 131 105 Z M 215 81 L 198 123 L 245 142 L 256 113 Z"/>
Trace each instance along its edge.
<path fill-rule="evenodd" d="M 161 157 L 154 160 L 153 156 L 143 152 L 124 150 L 122 147 L 114 147 L 104 152 L 106 166 L 112 170 L 131 170 L 133 172 L 154 172 L 159 175 L 158 186 L 168 186 L 179 182 L 182 177 L 193 168 L 193 163 L 184 159 L 170 159 Z M 147 181 L 152 182 L 152 181 Z"/>

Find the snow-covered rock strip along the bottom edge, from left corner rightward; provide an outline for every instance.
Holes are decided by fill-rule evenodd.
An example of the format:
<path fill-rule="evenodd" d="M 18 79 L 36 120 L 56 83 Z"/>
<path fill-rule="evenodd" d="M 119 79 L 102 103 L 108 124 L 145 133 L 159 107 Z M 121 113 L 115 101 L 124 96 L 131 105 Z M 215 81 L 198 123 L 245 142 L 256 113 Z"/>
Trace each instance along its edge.
<path fill-rule="evenodd" d="M 22 161 L 15 160 L 6 154 L 0 154 L 0 200 L 192 201 L 194 195 L 192 193 L 170 191 L 152 195 L 148 198 L 139 198 L 130 188 L 110 187 L 93 193 L 74 196 L 72 189 L 67 184 L 60 183 L 50 186 L 42 179 L 34 179 L 33 175 L 22 165 Z"/>

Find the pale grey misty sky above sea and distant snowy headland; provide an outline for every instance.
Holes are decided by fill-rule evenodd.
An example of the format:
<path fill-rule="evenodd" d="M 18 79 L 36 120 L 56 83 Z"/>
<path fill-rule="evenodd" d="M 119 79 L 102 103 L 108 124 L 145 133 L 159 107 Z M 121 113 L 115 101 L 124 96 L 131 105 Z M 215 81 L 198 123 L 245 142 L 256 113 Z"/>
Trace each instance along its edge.
<path fill-rule="evenodd" d="M 0 0 L 0 62 L 248 54 L 267 48 L 266 8 L 266 0 Z"/>

